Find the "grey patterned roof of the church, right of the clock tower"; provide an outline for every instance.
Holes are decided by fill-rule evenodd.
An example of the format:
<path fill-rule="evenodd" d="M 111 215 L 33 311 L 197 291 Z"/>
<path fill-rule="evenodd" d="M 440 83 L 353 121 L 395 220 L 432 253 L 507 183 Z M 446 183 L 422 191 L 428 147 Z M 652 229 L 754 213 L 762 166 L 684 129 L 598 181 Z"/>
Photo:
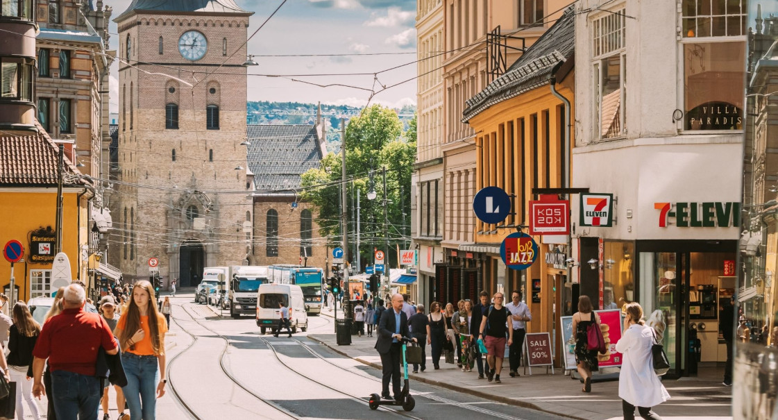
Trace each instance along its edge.
<path fill-rule="evenodd" d="M 257 191 L 293 193 L 300 176 L 321 163 L 315 125 L 248 124 L 248 170 Z"/>

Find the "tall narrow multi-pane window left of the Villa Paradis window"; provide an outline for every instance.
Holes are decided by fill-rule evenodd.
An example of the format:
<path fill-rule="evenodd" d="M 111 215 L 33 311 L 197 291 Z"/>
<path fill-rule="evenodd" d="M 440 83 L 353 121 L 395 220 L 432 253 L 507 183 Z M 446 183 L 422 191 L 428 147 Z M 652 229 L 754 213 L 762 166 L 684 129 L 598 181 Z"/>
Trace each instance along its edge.
<path fill-rule="evenodd" d="M 624 10 L 594 20 L 592 63 L 594 138 L 619 138 L 626 133 L 626 15 Z"/>

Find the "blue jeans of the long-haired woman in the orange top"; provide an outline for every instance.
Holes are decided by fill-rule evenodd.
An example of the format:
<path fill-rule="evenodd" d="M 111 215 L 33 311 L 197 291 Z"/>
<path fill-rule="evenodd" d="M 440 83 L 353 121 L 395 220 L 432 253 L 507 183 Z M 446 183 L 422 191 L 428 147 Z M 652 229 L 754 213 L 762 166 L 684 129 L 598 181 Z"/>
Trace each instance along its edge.
<path fill-rule="evenodd" d="M 127 376 L 127 386 L 122 387 L 130 408 L 132 420 L 154 420 L 156 416 L 156 386 L 159 369 L 155 355 L 121 353 L 121 364 Z"/>

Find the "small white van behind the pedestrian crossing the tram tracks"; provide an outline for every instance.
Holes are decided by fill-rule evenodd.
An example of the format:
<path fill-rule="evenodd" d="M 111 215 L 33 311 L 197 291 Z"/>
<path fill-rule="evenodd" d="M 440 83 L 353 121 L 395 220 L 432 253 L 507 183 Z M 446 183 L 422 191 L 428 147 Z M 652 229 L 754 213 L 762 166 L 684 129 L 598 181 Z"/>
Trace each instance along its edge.
<path fill-rule="evenodd" d="M 281 319 L 279 302 L 289 308 L 289 327 L 292 332 L 308 330 L 308 315 L 305 312 L 303 289 L 299 285 L 278 285 L 275 283 L 259 285 L 257 291 L 257 326 L 262 334 L 270 329 L 276 330 Z"/>

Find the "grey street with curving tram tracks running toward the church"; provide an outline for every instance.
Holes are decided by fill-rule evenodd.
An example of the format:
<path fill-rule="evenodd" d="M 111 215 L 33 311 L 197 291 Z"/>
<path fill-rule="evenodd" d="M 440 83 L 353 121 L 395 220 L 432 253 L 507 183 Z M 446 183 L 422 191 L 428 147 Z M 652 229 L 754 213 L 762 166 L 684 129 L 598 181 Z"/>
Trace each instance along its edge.
<path fill-rule="evenodd" d="M 380 393 L 379 370 L 332 352 L 307 333 L 262 335 L 253 319 L 219 318 L 191 296 L 177 296 L 173 306 L 171 331 L 191 336 L 191 345 L 168 362 L 168 377 L 173 397 L 191 418 L 560 418 L 414 381 L 413 411 L 371 411 L 367 401 Z M 334 330 L 329 317 L 309 319 L 311 334 Z"/>

